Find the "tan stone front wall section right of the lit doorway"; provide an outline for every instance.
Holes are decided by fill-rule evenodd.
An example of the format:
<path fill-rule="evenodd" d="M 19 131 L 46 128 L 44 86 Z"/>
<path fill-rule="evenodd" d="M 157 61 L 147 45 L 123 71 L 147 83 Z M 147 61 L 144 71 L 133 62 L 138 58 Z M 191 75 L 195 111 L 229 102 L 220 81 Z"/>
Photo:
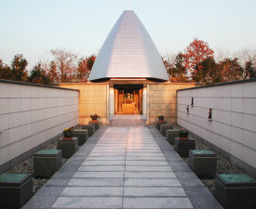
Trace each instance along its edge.
<path fill-rule="evenodd" d="M 149 124 L 157 121 L 157 115 L 163 114 L 168 124 L 177 123 L 177 90 L 195 87 L 195 83 L 148 84 L 148 120 Z"/>

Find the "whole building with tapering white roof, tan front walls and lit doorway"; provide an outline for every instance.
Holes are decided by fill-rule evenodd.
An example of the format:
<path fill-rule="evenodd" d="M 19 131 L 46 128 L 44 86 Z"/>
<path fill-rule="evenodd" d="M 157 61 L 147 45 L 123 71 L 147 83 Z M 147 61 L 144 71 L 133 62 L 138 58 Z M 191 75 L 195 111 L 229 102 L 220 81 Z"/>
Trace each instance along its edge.
<path fill-rule="evenodd" d="M 115 114 L 141 114 L 147 124 L 165 114 L 176 123 L 176 91 L 200 84 L 171 84 L 153 40 L 132 10 L 116 21 L 95 60 L 87 84 L 61 84 L 80 90 L 79 123 L 98 112 L 103 124 Z M 89 91 L 88 91 L 89 90 Z"/>

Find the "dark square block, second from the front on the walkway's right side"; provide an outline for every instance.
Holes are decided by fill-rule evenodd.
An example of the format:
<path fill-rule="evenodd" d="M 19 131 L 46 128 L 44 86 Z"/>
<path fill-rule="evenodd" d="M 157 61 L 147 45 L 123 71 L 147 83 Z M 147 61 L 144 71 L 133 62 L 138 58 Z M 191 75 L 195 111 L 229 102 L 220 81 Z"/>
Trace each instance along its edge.
<path fill-rule="evenodd" d="M 200 178 L 214 178 L 217 170 L 217 154 L 212 150 L 189 150 L 188 165 Z"/>

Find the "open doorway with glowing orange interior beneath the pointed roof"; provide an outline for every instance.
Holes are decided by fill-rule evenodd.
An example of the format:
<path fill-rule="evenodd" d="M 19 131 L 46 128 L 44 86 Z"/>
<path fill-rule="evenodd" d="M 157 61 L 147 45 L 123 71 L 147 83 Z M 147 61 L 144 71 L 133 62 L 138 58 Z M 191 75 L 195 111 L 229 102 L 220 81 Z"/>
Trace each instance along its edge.
<path fill-rule="evenodd" d="M 115 114 L 141 114 L 143 85 L 114 85 Z"/>

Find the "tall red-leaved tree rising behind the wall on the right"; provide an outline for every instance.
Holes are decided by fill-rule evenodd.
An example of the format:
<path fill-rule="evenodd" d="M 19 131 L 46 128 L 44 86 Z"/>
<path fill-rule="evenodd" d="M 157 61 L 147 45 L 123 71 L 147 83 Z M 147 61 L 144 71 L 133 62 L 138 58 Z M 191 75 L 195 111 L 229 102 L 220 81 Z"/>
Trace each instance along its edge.
<path fill-rule="evenodd" d="M 182 57 L 184 59 L 184 67 L 185 69 L 192 74 L 193 80 L 195 80 L 195 76 L 197 76 L 198 70 L 196 70 L 196 66 L 198 64 L 208 58 L 213 58 L 213 50 L 209 48 L 207 42 L 202 40 L 198 40 L 197 38 L 186 47 Z"/>

